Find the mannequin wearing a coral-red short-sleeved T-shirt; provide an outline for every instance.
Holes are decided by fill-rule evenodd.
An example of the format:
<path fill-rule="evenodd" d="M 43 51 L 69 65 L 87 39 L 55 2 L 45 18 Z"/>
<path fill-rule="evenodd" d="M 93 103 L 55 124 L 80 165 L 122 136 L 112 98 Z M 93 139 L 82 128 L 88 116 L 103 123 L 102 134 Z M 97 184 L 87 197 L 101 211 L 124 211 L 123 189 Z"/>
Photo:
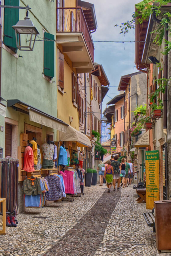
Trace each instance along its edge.
<path fill-rule="evenodd" d="M 34 156 L 33 156 L 33 144 L 29 143 L 24 151 L 24 167 L 23 170 L 26 172 L 33 172 L 34 169 Z"/>

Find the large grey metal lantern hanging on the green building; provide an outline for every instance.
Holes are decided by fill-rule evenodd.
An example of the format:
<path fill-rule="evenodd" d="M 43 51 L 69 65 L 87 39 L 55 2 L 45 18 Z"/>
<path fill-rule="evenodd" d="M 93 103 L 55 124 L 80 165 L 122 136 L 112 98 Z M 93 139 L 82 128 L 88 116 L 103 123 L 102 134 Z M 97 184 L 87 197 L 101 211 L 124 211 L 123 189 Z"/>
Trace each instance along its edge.
<path fill-rule="evenodd" d="M 28 10 L 24 20 L 19 20 L 16 25 L 12 26 L 15 30 L 16 44 L 20 51 L 33 51 L 36 36 L 39 35 L 38 30 L 28 17 Z M 17 37 L 17 34 L 19 37 Z M 22 45 L 21 35 L 30 35 L 29 45 Z M 33 40 L 32 40 L 33 38 Z M 24 38 L 23 38 L 24 40 Z"/>

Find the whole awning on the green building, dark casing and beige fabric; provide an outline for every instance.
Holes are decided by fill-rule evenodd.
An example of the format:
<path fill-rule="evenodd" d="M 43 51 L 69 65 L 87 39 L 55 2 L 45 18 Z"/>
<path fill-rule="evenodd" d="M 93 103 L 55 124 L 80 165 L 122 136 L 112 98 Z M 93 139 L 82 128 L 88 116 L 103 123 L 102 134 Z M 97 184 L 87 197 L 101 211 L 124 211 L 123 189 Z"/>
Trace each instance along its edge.
<path fill-rule="evenodd" d="M 7 100 L 7 107 L 28 114 L 30 121 L 66 133 L 68 124 L 20 100 Z"/>

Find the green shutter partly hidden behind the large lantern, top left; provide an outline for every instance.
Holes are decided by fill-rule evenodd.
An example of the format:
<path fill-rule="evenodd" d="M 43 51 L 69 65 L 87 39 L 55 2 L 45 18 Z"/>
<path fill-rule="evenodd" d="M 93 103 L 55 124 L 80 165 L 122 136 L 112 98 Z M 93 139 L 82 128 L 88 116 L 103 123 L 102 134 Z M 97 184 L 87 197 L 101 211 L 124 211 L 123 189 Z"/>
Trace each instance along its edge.
<path fill-rule="evenodd" d="M 19 6 L 19 0 L 4 0 L 4 5 Z M 12 26 L 14 26 L 18 20 L 19 9 L 4 8 L 4 44 L 15 52 L 17 52 L 17 45 L 15 30 Z"/>

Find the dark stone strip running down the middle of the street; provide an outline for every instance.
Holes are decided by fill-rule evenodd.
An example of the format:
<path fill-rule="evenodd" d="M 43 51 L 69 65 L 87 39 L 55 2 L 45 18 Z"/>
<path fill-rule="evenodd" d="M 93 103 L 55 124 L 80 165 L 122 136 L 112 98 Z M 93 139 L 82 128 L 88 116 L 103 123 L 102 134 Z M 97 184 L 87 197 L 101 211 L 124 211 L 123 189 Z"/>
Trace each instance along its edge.
<path fill-rule="evenodd" d="M 103 195 L 78 223 L 43 256 L 94 255 L 104 236 L 104 231 L 120 198 L 120 191 Z"/>

